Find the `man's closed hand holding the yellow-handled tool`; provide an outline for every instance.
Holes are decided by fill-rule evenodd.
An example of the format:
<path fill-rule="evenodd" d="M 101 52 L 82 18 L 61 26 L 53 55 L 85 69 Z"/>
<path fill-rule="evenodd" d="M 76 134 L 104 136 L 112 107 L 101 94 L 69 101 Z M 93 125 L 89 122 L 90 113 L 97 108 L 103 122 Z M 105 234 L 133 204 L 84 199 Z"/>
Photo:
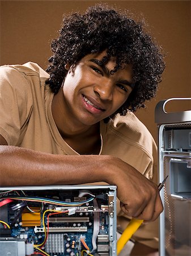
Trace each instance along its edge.
<path fill-rule="evenodd" d="M 135 168 L 120 159 L 114 159 L 113 180 L 117 185 L 117 197 L 121 209 L 131 217 L 154 221 L 163 211 L 158 185 L 148 180 Z"/>

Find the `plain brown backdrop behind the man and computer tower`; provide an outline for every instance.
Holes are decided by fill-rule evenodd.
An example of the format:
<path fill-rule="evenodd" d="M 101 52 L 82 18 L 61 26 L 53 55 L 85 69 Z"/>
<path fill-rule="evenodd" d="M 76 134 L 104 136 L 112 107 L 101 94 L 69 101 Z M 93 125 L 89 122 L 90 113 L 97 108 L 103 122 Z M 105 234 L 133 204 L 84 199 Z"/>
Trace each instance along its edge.
<path fill-rule="evenodd" d="M 137 116 L 157 141 L 154 109 L 158 101 L 171 97 L 191 97 L 190 85 L 190 1 L 0 1 L 1 59 L 0 64 L 23 64 L 34 61 L 46 68 L 50 41 L 60 29 L 62 15 L 84 11 L 90 5 L 107 2 L 143 15 L 151 34 L 167 54 L 167 68 L 158 96 L 147 102 Z M 191 101 L 190 101 L 191 102 Z M 176 101 L 167 110 L 191 109 L 191 103 Z"/>

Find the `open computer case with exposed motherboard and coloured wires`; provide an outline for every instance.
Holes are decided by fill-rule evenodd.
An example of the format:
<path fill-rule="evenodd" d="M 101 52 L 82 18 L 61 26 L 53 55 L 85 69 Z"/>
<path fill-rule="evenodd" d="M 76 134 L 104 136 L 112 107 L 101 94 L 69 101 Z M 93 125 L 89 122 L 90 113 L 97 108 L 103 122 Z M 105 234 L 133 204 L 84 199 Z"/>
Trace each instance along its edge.
<path fill-rule="evenodd" d="M 116 255 L 116 187 L 0 189 L 0 255 Z"/>

